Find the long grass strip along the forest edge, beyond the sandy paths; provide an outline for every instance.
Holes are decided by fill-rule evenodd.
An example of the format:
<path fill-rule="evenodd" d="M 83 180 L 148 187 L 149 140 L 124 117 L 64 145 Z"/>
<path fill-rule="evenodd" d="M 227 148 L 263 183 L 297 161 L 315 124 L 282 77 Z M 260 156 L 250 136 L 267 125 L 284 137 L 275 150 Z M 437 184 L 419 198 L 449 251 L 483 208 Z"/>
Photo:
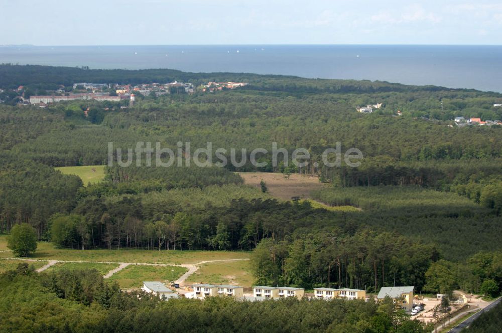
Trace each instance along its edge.
<path fill-rule="evenodd" d="M 0 238 L 0 247 L 7 242 Z M 77 250 L 56 249 L 52 243 L 38 242 L 37 251 L 30 258 L 42 260 L 111 261 L 160 264 L 193 264 L 204 260 L 249 258 L 249 252 L 241 251 L 180 251 L 180 250 L 136 250 L 99 249 Z M 12 252 L 0 252 L 0 258 L 13 257 Z"/>

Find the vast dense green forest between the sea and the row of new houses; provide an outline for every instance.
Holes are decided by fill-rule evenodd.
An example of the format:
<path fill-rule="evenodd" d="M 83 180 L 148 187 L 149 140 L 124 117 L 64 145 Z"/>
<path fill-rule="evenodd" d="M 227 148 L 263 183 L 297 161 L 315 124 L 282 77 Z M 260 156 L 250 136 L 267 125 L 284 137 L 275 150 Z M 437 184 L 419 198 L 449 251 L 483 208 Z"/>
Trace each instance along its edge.
<path fill-rule="evenodd" d="M 39 240 L 82 250 L 253 250 L 263 284 L 479 292 L 492 280 L 502 289 L 502 129 L 452 121 L 502 119 L 502 108 L 493 107 L 501 94 L 249 74 L 0 66 L 4 89 L 174 80 L 249 85 L 139 96 L 129 108 L 96 101 L 0 104 L 0 231 L 26 222 Z M 377 102 L 384 106 L 372 114 L 355 111 Z M 227 150 L 228 160 L 236 148 L 237 160 L 245 161 L 187 166 L 183 148 L 182 167 L 137 166 L 134 159 L 127 168 L 107 167 L 105 179 L 92 185 L 54 169 L 107 165 L 108 142 L 127 151 L 139 141 L 173 151 L 177 142 L 193 150 L 212 142 Z M 276 166 L 272 142 L 284 148 Z M 363 153 L 357 168 L 323 165 L 323 151 L 337 142 L 342 154 L 351 147 Z M 257 147 L 268 150 L 259 155 L 265 167 L 249 162 Z M 310 153 L 306 167 L 291 163 L 296 148 Z M 214 150 L 210 155 L 204 158 L 217 157 Z M 313 199 L 358 210 L 278 201 L 243 185 L 235 171 L 315 175 L 326 186 Z"/>

